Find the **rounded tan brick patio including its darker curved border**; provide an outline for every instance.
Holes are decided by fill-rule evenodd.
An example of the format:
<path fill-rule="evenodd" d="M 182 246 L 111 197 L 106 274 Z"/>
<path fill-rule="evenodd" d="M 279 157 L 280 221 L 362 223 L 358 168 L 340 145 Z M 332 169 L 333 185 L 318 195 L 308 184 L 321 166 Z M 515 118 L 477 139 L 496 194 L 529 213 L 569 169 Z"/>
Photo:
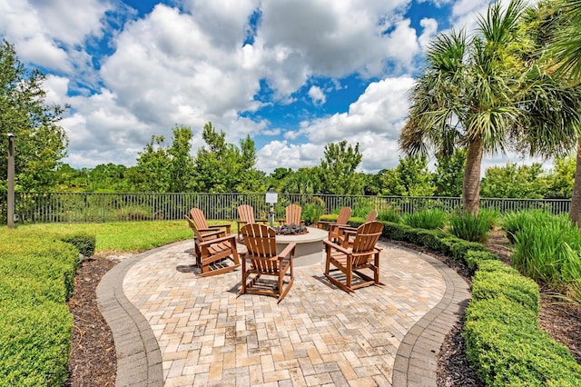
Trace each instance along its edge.
<path fill-rule="evenodd" d="M 468 285 L 426 254 L 383 247 L 385 286 L 345 293 L 320 263 L 296 268 L 279 304 L 236 298 L 240 269 L 197 277 L 192 242 L 117 264 L 97 289 L 117 385 L 435 386 L 439 347 Z"/>

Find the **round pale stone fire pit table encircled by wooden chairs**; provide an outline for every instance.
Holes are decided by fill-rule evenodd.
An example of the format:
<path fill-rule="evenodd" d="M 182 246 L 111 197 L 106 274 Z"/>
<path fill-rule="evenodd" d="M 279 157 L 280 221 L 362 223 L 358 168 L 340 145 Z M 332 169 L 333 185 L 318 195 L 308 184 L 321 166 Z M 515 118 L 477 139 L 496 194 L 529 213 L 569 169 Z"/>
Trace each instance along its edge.
<path fill-rule="evenodd" d="M 276 236 L 277 253 L 281 253 L 289 243 L 297 243 L 294 251 L 294 261 L 292 261 L 295 267 L 320 263 L 323 259 L 322 241 L 327 238 L 329 232 L 313 227 L 307 227 L 307 230 L 309 230 L 309 233 Z"/>

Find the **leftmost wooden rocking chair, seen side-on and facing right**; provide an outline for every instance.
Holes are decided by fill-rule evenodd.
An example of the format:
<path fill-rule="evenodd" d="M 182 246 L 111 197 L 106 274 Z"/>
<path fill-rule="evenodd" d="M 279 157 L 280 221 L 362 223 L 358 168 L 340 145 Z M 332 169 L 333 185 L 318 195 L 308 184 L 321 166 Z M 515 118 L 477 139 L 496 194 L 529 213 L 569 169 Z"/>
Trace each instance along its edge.
<path fill-rule="evenodd" d="M 192 218 L 188 215 L 185 218 L 195 235 L 196 265 L 202 269 L 200 276 L 227 273 L 240 267 L 236 235 L 226 234 L 223 230 L 201 233 Z M 231 259 L 233 264 L 224 263 L 227 258 Z"/>

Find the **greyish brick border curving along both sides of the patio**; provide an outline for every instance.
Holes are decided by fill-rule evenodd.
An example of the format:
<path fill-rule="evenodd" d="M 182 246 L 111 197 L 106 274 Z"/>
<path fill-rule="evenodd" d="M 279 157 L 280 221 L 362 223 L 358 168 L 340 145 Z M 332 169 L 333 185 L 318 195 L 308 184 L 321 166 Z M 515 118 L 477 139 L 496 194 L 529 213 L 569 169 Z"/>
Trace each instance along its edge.
<path fill-rule="evenodd" d="M 409 250 L 398 245 L 390 247 Z M 162 355 L 153 331 L 123 293 L 123 278 L 129 269 L 140 259 L 163 248 L 118 263 L 103 276 L 97 287 L 99 309 L 113 332 L 117 352 L 117 386 L 163 385 Z M 446 283 L 446 291 L 438 305 L 424 315 L 400 343 L 392 384 L 436 386 L 439 348 L 451 327 L 464 315 L 470 293 L 468 283 L 448 265 L 428 254 L 413 252 L 438 270 Z"/>

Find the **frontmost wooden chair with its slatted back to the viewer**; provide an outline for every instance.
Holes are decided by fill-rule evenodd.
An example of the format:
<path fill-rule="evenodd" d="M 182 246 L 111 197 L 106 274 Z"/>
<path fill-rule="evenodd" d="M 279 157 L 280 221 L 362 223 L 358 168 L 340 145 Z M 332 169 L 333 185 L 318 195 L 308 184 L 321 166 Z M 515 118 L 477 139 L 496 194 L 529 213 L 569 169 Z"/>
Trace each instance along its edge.
<path fill-rule="evenodd" d="M 238 295 L 270 295 L 277 297 L 280 303 L 294 282 L 292 260 L 296 244 L 289 243 L 281 253 L 276 253 L 274 229 L 266 224 L 246 224 L 241 229 L 241 235 L 248 251 L 242 255 L 242 287 Z M 251 275 L 253 278 L 250 278 Z M 263 275 L 274 277 L 275 281 L 262 281 Z"/>

